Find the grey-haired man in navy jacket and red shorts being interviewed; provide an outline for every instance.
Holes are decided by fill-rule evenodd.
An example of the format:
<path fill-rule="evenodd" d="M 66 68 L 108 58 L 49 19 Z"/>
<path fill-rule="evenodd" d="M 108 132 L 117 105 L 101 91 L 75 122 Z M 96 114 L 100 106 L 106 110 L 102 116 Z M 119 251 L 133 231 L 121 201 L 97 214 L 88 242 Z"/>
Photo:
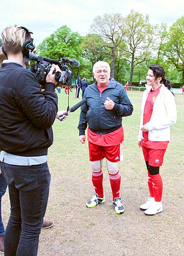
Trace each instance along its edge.
<path fill-rule="evenodd" d="M 121 83 L 110 78 L 110 72 L 107 62 L 99 61 L 93 66 L 96 83 L 89 85 L 84 92 L 87 102 L 81 107 L 79 141 L 85 143 L 85 130 L 88 126 L 91 179 L 95 193 L 86 206 L 93 208 L 105 202 L 102 164 L 103 158 L 106 158 L 112 205 L 115 213 L 123 214 L 124 206 L 120 197 L 121 176 L 118 168 L 118 162 L 123 160 L 122 117 L 132 115 L 133 106 Z"/>

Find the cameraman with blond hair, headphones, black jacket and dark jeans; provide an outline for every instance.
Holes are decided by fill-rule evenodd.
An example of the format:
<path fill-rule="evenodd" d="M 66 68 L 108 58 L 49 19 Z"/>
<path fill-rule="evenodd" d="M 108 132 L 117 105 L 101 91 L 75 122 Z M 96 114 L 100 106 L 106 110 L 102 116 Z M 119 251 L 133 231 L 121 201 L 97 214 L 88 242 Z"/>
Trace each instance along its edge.
<path fill-rule="evenodd" d="M 32 32 L 17 25 L 2 31 L 7 56 L 0 69 L 0 163 L 8 183 L 11 213 L 4 236 L 7 256 L 35 256 L 49 196 L 47 164 L 58 110 L 52 65 L 43 94 L 23 57 L 34 50 Z M 64 112 L 60 111 L 60 115 Z"/>

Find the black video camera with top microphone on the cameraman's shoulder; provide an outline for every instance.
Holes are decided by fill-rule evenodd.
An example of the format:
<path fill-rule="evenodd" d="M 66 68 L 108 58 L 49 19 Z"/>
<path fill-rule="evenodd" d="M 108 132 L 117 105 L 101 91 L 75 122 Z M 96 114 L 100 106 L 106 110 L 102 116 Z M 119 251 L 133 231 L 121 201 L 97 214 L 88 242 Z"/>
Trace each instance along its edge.
<path fill-rule="evenodd" d="M 80 63 L 78 60 L 75 59 L 69 59 L 66 57 L 63 57 L 60 59 L 60 61 L 55 59 L 49 59 L 47 57 L 37 56 L 31 53 L 29 51 L 29 60 L 35 60 L 36 63 L 29 68 L 31 72 L 35 74 L 37 77 L 38 82 L 40 85 L 44 85 L 46 81 L 46 76 L 48 75 L 48 72 L 51 69 L 52 64 L 58 65 L 61 69 L 61 72 L 57 71 L 55 72 L 55 80 L 58 81 L 60 85 L 72 85 L 72 69 L 69 68 L 69 66 L 66 65 L 66 63 L 69 63 L 70 66 L 79 66 Z"/>

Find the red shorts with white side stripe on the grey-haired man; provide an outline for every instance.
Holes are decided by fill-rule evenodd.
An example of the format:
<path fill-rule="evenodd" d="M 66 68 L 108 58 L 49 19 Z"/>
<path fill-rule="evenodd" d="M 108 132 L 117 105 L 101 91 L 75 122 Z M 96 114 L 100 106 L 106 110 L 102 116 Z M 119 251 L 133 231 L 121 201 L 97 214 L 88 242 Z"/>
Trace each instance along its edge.
<path fill-rule="evenodd" d="M 99 146 L 88 141 L 90 161 L 99 161 L 103 158 L 110 162 L 123 161 L 122 144 L 114 146 Z"/>

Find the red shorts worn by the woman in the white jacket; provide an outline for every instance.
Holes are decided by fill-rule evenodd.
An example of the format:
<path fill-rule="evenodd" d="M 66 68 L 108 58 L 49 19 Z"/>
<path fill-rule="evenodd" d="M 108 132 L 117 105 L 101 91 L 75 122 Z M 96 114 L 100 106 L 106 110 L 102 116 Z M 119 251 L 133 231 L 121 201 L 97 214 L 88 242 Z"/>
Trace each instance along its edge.
<path fill-rule="evenodd" d="M 149 162 L 149 165 L 159 167 L 163 164 L 164 154 L 166 149 L 149 149 L 142 145 L 144 160 Z"/>

